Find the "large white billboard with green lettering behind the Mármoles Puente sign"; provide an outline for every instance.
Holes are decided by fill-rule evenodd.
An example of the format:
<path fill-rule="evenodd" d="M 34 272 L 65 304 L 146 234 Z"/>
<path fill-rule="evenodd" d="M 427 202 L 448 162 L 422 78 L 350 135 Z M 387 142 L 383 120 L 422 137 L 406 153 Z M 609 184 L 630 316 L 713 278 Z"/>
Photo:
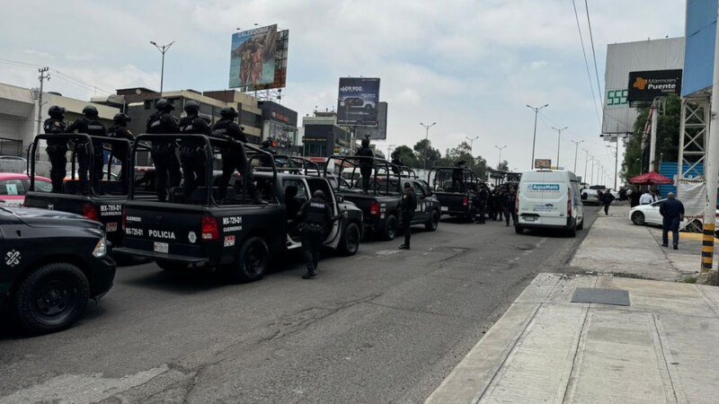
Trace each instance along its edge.
<path fill-rule="evenodd" d="M 637 110 L 630 108 L 627 77 L 630 72 L 681 69 L 684 38 L 640 40 L 607 46 L 601 133 L 634 132 Z"/>

